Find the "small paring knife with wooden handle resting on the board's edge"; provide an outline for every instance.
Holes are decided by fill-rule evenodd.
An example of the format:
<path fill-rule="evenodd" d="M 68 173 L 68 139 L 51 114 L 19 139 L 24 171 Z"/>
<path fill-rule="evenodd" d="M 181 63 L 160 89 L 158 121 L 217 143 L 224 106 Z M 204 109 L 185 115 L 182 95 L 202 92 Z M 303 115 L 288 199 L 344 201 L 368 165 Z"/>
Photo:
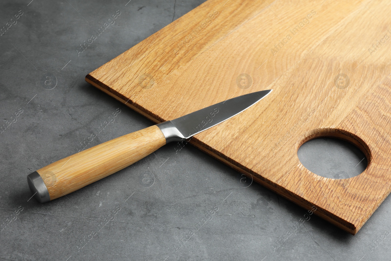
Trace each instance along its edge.
<path fill-rule="evenodd" d="M 241 95 L 109 140 L 30 173 L 27 183 L 38 202 L 54 200 L 124 169 L 169 142 L 189 139 L 234 117 L 271 91 Z"/>

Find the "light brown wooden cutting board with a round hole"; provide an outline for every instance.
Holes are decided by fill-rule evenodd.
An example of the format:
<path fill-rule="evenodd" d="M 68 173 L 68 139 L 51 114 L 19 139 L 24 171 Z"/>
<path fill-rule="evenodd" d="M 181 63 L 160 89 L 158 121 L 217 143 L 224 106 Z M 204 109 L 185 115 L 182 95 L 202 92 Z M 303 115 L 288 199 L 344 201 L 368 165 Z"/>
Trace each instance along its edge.
<path fill-rule="evenodd" d="M 208 0 L 86 81 L 153 122 L 274 89 L 192 144 L 355 234 L 391 187 L 391 2 Z M 323 3 L 322 3 L 323 2 Z M 346 180 L 297 150 L 337 137 L 368 158 Z"/>

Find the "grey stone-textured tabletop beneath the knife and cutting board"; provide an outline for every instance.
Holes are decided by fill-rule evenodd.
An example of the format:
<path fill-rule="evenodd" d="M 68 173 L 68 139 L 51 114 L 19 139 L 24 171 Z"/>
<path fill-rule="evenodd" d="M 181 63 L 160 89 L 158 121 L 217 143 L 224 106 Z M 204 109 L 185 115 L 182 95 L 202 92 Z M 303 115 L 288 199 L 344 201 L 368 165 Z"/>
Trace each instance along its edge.
<path fill-rule="evenodd" d="M 52 202 L 30 199 L 30 172 L 152 125 L 84 76 L 202 2 L 2 1 L 0 27 L 14 24 L 0 36 L 1 260 L 389 259 L 389 198 L 355 236 L 314 214 L 302 223 L 304 209 L 190 145 L 168 144 Z M 360 153 L 318 139 L 298 154 L 317 174 L 347 178 L 365 168 Z"/>

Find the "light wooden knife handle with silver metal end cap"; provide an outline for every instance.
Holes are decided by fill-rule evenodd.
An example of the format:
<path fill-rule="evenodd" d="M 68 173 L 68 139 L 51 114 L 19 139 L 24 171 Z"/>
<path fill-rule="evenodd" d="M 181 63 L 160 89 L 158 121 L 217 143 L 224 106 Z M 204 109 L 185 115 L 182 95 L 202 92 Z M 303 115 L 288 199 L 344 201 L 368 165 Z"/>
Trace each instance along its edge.
<path fill-rule="evenodd" d="M 38 169 L 27 176 L 41 203 L 76 191 L 111 175 L 166 144 L 156 125 L 109 140 Z"/>

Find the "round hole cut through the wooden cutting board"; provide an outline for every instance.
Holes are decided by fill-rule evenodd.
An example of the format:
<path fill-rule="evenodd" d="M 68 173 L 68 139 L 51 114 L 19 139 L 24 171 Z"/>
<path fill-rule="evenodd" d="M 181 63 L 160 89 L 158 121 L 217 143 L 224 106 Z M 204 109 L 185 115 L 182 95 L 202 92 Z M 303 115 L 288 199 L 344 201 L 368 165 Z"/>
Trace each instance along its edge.
<path fill-rule="evenodd" d="M 301 164 L 325 178 L 352 178 L 370 163 L 370 151 L 365 142 L 343 130 L 314 130 L 299 145 L 297 155 Z M 348 185 L 348 181 L 340 183 L 342 187 Z"/>

